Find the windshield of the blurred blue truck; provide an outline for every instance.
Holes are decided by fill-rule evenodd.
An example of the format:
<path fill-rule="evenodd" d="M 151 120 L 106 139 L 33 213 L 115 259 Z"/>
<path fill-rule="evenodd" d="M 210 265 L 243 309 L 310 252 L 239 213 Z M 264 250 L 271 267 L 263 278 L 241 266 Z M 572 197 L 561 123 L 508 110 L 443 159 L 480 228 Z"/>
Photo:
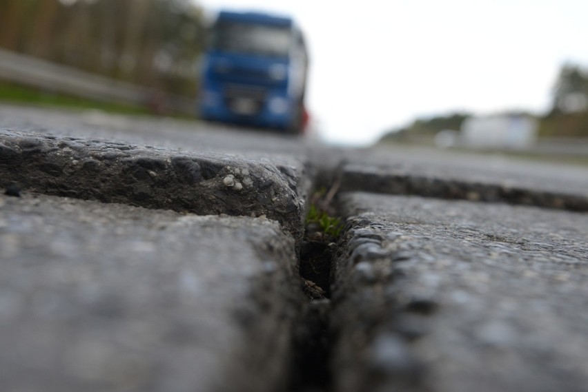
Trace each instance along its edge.
<path fill-rule="evenodd" d="M 215 50 L 262 56 L 287 57 L 290 43 L 291 29 L 288 26 L 237 21 L 219 21 L 212 37 Z"/>

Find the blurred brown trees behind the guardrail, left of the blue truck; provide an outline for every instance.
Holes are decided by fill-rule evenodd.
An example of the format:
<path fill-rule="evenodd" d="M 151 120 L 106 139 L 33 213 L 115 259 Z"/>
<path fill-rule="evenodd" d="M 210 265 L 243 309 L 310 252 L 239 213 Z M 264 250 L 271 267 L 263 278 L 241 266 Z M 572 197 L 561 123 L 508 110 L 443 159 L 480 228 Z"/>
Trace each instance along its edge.
<path fill-rule="evenodd" d="M 0 47 L 195 96 L 202 8 L 189 0 L 0 0 Z"/>

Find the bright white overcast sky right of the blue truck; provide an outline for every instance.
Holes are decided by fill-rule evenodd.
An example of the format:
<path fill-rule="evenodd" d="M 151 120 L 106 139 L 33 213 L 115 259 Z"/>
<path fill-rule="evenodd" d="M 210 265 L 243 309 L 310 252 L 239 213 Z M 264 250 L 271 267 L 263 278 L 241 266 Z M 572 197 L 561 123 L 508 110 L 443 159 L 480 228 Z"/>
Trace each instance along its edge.
<path fill-rule="evenodd" d="M 588 65 L 586 0 L 195 0 L 291 14 L 326 141 L 362 145 L 417 116 L 549 107 L 560 65 Z"/>

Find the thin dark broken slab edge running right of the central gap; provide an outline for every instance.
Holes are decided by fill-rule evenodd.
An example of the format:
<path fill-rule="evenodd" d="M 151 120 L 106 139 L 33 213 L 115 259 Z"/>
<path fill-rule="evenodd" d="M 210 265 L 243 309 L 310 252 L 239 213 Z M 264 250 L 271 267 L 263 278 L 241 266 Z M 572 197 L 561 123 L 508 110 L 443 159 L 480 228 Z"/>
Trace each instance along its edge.
<path fill-rule="evenodd" d="M 481 183 L 435 176 L 415 176 L 393 171 L 364 169 L 357 165 L 342 167 L 340 177 L 341 190 L 349 192 L 411 194 L 434 198 L 533 205 L 578 212 L 588 211 L 588 195 L 512 187 L 498 182 Z"/>

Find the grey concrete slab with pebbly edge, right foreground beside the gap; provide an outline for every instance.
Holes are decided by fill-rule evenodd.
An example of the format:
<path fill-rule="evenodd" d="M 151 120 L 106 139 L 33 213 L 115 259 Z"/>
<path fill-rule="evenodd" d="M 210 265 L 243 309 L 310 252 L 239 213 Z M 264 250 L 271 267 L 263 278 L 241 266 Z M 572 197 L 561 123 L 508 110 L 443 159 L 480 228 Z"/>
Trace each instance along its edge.
<path fill-rule="evenodd" d="M 588 215 L 343 194 L 336 391 L 588 391 Z"/>

